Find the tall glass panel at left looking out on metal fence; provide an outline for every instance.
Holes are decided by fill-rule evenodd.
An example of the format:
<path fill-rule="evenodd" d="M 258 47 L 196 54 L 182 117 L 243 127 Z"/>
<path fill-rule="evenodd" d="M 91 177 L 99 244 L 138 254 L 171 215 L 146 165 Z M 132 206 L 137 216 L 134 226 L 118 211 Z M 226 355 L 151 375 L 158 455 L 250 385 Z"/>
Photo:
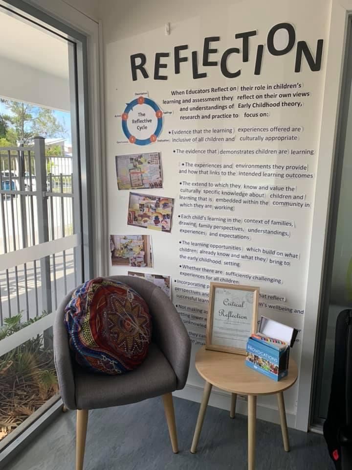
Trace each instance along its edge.
<path fill-rule="evenodd" d="M 85 45 L 57 26 L 0 1 L 0 461 L 60 400 L 51 327 L 91 273 Z"/>

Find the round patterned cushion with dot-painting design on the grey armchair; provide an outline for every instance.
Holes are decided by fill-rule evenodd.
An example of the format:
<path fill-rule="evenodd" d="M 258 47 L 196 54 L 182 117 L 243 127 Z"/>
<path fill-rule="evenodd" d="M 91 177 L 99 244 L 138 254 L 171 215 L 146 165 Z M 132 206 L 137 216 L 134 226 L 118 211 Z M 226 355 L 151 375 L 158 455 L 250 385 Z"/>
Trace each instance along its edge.
<path fill-rule="evenodd" d="M 141 364 L 152 337 L 148 305 L 131 287 L 110 279 L 78 287 L 65 308 L 65 324 L 78 364 L 103 374 Z"/>

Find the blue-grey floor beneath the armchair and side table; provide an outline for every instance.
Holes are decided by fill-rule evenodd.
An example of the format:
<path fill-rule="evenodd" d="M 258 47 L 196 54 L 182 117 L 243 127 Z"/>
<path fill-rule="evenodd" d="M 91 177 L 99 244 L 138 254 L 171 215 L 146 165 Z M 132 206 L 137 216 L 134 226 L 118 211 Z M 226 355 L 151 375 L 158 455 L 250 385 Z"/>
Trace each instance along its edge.
<path fill-rule="evenodd" d="M 246 470 L 247 422 L 208 407 L 198 453 L 190 446 L 199 404 L 174 399 L 180 452 L 173 454 L 161 399 L 89 414 L 85 470 Z M 75 413 L 62 414 L 6 470 L 74 470 Z M 257 422 L 256 470 L 330 470 L 322 436 Z"/>

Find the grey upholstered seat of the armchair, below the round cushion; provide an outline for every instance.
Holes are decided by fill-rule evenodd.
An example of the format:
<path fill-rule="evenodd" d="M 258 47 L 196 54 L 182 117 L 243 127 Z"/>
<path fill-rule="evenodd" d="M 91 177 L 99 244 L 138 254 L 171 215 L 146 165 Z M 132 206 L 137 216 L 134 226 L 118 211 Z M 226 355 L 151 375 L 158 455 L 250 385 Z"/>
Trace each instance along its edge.
<path fill-rule="evenodd" d="M 121 376 L 91 374 L 74 368 L 75 400 L 78 409 L 127 405 L 176 390 L 176 375 L 155 343 L 143 364 Z"/>

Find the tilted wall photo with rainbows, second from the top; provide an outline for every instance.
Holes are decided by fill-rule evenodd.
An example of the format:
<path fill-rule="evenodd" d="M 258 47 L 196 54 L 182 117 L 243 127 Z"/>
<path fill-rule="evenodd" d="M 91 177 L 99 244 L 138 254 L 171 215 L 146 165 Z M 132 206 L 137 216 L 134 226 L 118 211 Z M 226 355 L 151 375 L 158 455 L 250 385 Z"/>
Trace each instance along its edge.
<path fill-rule="evenodd" d="M 128 225 L 171 233 L 174 199 L 130 193 Z"/>

